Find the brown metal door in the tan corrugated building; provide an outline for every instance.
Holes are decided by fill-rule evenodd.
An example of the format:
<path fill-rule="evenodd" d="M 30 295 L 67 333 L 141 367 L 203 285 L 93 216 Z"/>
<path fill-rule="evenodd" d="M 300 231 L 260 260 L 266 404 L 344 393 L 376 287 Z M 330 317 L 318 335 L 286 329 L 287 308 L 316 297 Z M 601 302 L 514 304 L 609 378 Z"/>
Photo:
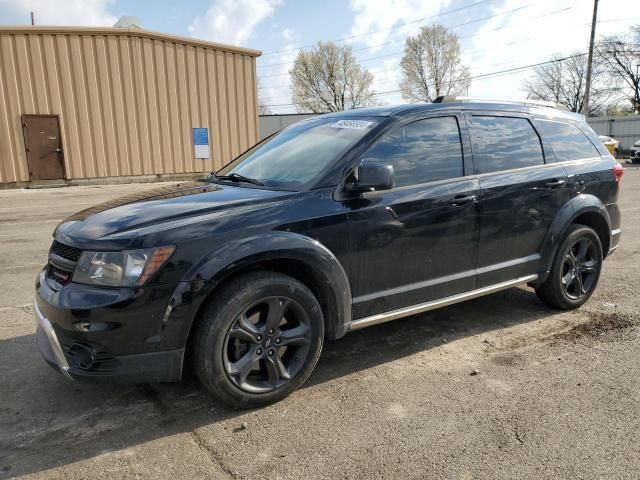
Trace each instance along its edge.
<path fill-rule="evenodd" d="M 31 180 L 64 178 L 64 157 L 57 115 L 22 115 Z"/>

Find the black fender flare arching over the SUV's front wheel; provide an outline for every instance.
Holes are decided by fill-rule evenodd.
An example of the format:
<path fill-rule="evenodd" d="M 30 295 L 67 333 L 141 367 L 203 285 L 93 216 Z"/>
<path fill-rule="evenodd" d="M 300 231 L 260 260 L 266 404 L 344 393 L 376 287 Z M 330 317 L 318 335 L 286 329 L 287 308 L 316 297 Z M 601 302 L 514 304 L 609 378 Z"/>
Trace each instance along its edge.
<path fill-rule="evenodd" d="M 320 242 L 292 232 L 270 232 L 229 241 L 192 266 L 174 291 L 164 324 L 186 345 L 206 298 L 237 271 L 263 261 L 295 260 L 313 271 L 314 284 L 326 300 L 328 338 L 344 336 L 351 323 L 351 287 L 344 268 Z M 172 328 L 173 327 L 173 328 Z M 175 329 L 175 330 L 174 330 Z M 169 332 L 167 332 L 169 333 Z"/>

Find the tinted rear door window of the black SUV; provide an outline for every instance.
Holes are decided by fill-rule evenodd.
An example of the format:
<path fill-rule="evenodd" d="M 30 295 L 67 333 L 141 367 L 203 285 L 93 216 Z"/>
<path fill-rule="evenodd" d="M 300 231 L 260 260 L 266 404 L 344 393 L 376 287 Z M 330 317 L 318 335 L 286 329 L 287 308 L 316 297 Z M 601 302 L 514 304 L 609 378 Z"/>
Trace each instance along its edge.
<path fill-rule="evenodd" d="M 542 165 L 542 145 L 526 118 L 473 116 L 473 158 L 478 173 Z"/>

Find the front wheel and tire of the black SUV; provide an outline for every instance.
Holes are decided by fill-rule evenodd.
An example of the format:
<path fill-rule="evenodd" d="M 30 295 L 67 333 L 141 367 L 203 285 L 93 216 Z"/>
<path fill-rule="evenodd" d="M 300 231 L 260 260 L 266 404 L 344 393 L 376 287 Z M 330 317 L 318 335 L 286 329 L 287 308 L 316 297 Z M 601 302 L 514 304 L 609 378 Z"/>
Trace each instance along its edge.
<path fill-rule="evenodd" d="M 324 319 L 304 284 L 262 271 L 215 294 L 194 333 L 200 382 L 228 406 L 253 408 L 283 399 L 307 380 L 322 350 Z"/>

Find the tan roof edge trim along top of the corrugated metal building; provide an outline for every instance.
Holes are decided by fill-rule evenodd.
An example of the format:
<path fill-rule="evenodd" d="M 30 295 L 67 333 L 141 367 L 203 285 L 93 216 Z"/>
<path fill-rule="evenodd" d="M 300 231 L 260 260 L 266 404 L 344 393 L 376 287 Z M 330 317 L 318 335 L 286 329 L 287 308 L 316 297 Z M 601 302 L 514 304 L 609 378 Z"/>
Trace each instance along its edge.
<path fill-rule="evenodd" d="M 106 35 L 106 36 L 126 36 L 149 38 L 152 40 L 161 40 L 165 42 L 180 43 L 194 47 L 207 48 L 211 50 L 219 50 L 230 53 L 239 53 L 250 57 L 259 57 L 262 55 L 260 50 L 250 48 L 236 47 L 235 45 L 226 45 L 224 43 L 207 42 L 195 38 L 181 37 L 178 35 L 169 35 L 167 33 L 154 32 L 152 30 L 143 30 L 141 28 L 113 28 L 113 27 L 59 27 L 59 26 L 0 26 L 0 35 Z"/>

